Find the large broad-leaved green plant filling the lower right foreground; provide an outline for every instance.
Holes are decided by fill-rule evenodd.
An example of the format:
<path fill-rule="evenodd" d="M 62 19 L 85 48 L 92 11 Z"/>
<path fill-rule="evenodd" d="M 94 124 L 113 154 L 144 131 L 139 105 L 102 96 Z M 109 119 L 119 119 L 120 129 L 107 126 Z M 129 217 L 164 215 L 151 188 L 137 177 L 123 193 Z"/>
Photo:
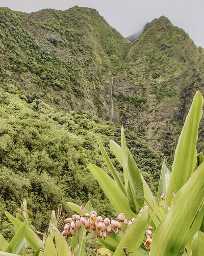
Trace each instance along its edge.
<path fill-rule="evenodd" d="M 104 247 L 101 250 L 104 255 L 122 256 L 124 248 L 126 253 L 131 252 L 134 256 L 203 255 L 204 164 L 203 154 L 196 152 L 202 106 L 203 98 L 197 90 L 175 150 L 172 173 L 165 161 L 163 163 L 157 198 L 126 146 L 123 128 L 121 147 L 110 141 L 110 149 L 123 168 L 124 184 L 98 140 L 113 178 L 95 165 L 88 164 L 87 167 L 116 213 L 125 213 L 130 220 L 135 218 L 125 234 L 119 232 L 113 236 L 110 233 L 106 240 L 98 238 Z M 149 225 L 154 227 L 152 233 L 147 231 Z M 121 230 L 125 230 L 123 226 Z"/>

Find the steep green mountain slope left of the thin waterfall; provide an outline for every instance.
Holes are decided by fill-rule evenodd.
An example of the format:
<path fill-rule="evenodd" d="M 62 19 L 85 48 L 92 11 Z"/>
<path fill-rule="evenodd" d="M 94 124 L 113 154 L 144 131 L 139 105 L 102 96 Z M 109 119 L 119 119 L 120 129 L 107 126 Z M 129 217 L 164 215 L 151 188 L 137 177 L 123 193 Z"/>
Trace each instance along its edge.
<path fill-rule="evenodd" d="M 109 119 L 110 79 L 130 42 L 89 8 L 0 11 L 1 83 L 31 101 Z M 106 109 L 106 111 L 104 111 Z"/>

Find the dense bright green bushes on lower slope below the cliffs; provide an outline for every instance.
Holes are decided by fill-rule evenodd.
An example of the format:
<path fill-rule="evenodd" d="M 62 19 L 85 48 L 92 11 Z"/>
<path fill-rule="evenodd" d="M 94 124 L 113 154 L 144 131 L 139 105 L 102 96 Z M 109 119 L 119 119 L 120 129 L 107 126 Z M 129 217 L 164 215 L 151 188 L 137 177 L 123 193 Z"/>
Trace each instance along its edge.
<path fill-rule="evenodd" d="M 113 209 L 88 172 L 86 161 L 106 169 L 97 136 L 108 147 L 109 138 L 119 141 L 120 127 L 80 111 L 59 112 L 40 100 L 28 103 L 27 98 L 3 90 L 0 99 L 2 234 L 7 236 L 10 232 L 4 209 L 14 213 L 23 198 L 27 198 L 30 217 L 39 230 L 47 227 L 50 211 L 62 199 L 79 204 L 90 199 L 100 213 L 111 216 Z M 147 147 L 135 130 L 127 129 L 126 135 L 129 148 L 155 192 L 161 157 Z M 109 154 L 121 172 L 121 166 L 110 151 Z"/>

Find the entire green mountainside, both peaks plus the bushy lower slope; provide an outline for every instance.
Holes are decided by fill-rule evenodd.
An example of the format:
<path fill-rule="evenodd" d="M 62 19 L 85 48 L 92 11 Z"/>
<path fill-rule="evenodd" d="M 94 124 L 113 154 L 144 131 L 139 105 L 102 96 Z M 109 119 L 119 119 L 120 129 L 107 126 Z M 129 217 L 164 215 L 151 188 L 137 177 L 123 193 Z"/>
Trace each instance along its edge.
<path fill-rule="evenodd" d="M 23 197 L 39 230 L 62 198 L 78 204 L 90 199 L 99 213 L 112 216 L 86 161 L 107 170 L 96 136 L 108 150 L 110 138 L 120 141 L 121 124 L 156 192 L 162 158 L 172 162 L 196 88 L 204 93 L 203 49 L 164 16 L 130 42 L 90 8 L 30 14 L 0 8 L 0 58 L 5 236 L 11 226 L 3 209 L 14 213 Z M 115 125 L 110 122 L 112 77 Z M 202 120 L 199 150 L 203 128 Z M 64 212 L 70 214 L 66 207 Z"/>

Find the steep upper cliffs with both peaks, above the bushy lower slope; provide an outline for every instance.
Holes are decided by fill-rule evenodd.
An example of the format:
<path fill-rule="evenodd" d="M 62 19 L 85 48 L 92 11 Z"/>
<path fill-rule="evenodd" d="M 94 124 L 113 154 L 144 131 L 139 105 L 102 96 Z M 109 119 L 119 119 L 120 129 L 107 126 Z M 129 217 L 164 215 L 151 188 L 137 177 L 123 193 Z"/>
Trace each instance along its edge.
<path fill-rule="evenodd" d="M 114 123 L 172 157 L 196 88 L 204 93 L 203 49 L 182 29 L 162 16 L 130 42 L 97 11 L 78 7 L 31 14 L 1 8 L 0 20 L 5 91 L 28 104 L 40 99 L 110 120 L 113 76 Z"/>

